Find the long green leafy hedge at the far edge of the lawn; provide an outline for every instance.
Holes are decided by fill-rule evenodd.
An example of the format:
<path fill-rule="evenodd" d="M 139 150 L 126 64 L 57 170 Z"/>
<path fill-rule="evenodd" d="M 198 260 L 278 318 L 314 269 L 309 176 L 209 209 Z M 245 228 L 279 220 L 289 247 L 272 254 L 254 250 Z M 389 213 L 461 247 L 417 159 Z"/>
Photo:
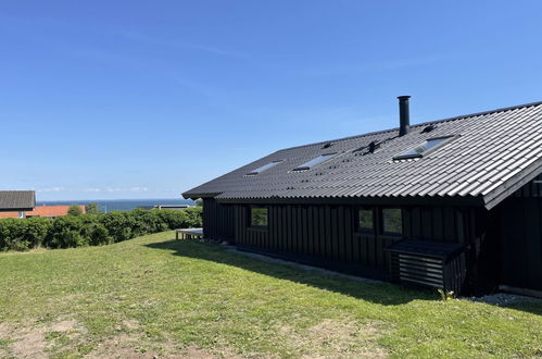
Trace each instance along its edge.
<path fill-rule="evenodd" d="M 0 250 L 100 246 L 174 228 L 201 227 L 201 207 L 0 220 Z"/>

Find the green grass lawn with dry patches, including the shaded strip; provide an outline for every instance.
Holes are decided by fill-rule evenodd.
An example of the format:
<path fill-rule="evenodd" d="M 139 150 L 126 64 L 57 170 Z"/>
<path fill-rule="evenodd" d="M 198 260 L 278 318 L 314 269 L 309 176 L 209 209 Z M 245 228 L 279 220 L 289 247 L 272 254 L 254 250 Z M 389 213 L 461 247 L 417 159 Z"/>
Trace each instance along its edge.
<path fill-rule="evenodd" d="M 0 357 L 542 356 L 540 302 L 444 302 L 173 237 L 0 255 Z"/>

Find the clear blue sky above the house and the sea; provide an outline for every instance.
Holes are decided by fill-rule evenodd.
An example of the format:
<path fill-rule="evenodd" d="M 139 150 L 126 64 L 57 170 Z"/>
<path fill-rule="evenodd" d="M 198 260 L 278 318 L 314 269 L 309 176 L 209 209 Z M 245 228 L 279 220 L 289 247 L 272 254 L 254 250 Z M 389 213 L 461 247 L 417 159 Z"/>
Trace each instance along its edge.
<path fill-rule="evenodd" d="M 0 188 L 174 198 L 277 149 L 542 100 L 540 1 L 3 1 Z"/>

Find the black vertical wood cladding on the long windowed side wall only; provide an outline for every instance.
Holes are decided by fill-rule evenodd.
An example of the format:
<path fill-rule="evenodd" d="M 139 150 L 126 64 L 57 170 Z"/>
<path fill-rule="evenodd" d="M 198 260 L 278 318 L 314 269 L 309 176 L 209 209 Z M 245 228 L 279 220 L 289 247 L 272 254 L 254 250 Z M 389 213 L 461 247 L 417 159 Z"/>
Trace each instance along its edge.
<path fill-rule="evenodd" d="M 357 232 L 354 205 L 269 205 L 268 226 L 250 226 L 250 206 L 205 201 L 207 237 L 228 238 L 237 245 L 290 259 L 338 268 L 351 263 L 387 276 L 390 255 L 386 248 L 402 238 L 475 243 L 476 213 L 468 208 L 404 207 L 403 235 L 383 234 L 380 208 L 374 207 L 375 231 Z M 340 265 L 339 265 L 340 264 Z"/>

